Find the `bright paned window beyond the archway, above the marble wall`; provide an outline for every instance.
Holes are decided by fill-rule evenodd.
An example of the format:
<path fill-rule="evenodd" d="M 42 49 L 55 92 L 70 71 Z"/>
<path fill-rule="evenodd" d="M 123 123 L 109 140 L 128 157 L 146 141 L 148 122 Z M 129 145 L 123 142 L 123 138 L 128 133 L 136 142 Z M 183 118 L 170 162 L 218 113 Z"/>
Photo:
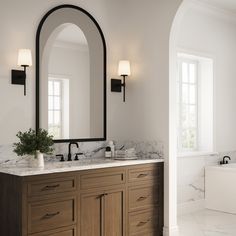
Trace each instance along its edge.
<path fill-rule="evenodd" d="M 178 108 L 179 108 L 179 150 L 198 149 L 198 62 L 179 60 Z"/>

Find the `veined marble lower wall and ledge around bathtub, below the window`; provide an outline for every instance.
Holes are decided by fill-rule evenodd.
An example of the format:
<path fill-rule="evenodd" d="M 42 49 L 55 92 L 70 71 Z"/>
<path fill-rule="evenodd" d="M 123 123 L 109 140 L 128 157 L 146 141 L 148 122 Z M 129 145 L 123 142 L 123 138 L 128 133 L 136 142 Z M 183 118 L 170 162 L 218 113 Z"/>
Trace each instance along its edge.
<path fill-rule="evenodd" d="M 204 207 L 205 167 L 219 164 L 225 155 L 231 157 L 231 162 L 236 162 L 236 151 L 206 156 L 178 157 L 177 201 L 179 214 L 191 212 L 199 206 Z"/>

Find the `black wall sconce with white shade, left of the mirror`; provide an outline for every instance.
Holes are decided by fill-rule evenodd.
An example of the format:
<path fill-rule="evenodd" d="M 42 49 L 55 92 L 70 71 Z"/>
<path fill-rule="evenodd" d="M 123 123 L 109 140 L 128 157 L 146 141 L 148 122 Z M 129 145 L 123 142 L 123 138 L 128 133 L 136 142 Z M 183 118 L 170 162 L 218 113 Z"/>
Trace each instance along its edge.
<path fill-rule="evenodd" d="M 32 66 L 32 55 L 29 49 L 20 49 L 18 52 L 18 66 L 22 66 L 24 70 L 11 71 L 11 83 L 24 85 L 24 95 L 26 96 L 26 67 Z"/>

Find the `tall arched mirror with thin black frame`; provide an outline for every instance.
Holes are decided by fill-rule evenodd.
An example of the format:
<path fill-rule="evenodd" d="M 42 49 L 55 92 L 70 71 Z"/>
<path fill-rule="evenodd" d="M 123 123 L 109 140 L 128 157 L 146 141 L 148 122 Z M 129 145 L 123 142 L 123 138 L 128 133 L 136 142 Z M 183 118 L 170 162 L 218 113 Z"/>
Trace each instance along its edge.
<path fill-rule="evenodd" d="M 106 44 L 85 10 L 61 5 L 36 37 L 36 128 L 55 142 L 106 139 Z"/>

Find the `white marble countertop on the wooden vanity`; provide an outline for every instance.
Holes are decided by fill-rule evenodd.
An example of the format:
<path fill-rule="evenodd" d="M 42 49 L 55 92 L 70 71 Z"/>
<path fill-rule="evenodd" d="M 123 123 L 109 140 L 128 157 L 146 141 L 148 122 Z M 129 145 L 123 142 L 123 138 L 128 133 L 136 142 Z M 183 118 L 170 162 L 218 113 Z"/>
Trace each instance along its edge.
<path fill-rule="evenodd" d="M 138 160 L 112 160 L 95 158 L 90 160 L 79 160 L 72 162 L 45 162 L 44 168 L 32 168 L 29 164 L 3 164 L 0 165 L 0 173 L 16 176 L 33 176 L 42 174 L 61 173 L 69 171 L 92 170 L 110 167 L 141 165 L 164 162 L 164 159 L 138 159 Z"/>

